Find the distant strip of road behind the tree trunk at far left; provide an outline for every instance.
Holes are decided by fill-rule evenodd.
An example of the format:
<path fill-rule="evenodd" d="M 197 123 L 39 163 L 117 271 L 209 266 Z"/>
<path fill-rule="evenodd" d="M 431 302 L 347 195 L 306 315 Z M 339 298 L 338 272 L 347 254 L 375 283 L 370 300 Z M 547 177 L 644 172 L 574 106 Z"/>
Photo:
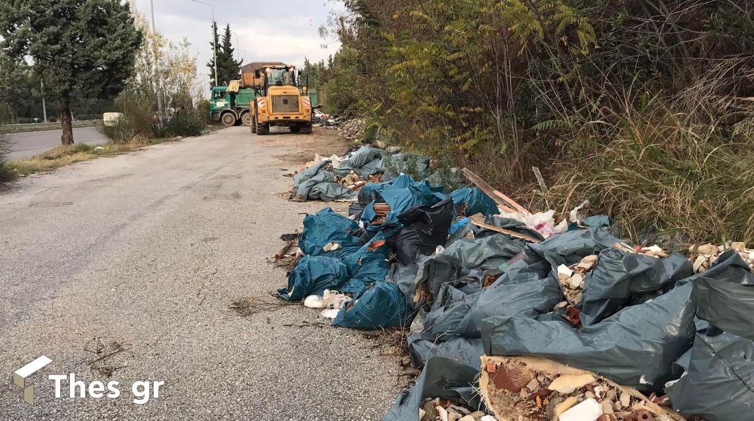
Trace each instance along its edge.
<path fill-rule="evenodd" d="M 25 159 L 38 155 L 48 149 L 60 146 L 62 130 L 29 131 L 26 133 L 13 133 L 11 137 L 10 159 Z M 88 143 L 97 145 L 106 141 L 105 135 L 97 131 L 97 128 L 73 129 L 73 141 L 75 143 Z"/>

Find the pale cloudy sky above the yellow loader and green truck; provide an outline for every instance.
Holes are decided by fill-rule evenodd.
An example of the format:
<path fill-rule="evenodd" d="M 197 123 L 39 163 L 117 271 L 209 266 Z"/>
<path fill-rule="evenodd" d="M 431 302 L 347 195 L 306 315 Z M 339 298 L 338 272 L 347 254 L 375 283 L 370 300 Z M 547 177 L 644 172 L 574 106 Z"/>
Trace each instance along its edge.
<path fill-rule="evenodd" d="M 150 0 L 132 0 L 143 14 L 150 16 Z M 202 0 L 215 9 L 220 35 L 225 24 L 238 34 L 233 44 L 244 63 L 282 61 L 302 65 L 304 57 L 318 61 L 340 47 L 333 39 L 319 35 L 320 26 L 335 11 L 343 10 L 338 0 Z M 158 30 L 170 41 L 188 38 L 192 54 L 198 57 L 199 81 L 209 84 L 212 47 L 209 6 L 192 0 L 153 0 Z M 232 35 L 232 34 L 231 34 Z M 239 51 L 240 50 L 240 51 Z M 205 94 L 209 91 L 206 90 Z"/>

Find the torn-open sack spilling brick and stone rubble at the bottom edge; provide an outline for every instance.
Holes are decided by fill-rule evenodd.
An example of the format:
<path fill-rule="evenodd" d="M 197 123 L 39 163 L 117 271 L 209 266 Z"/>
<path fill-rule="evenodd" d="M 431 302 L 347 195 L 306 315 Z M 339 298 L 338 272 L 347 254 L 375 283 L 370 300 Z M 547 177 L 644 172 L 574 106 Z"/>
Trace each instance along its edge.
<path fill-rule="evenodd" d="M 684 420 L 636 389 L 545 358 L 484 356 L 479 389 L 497 419 Z"/>

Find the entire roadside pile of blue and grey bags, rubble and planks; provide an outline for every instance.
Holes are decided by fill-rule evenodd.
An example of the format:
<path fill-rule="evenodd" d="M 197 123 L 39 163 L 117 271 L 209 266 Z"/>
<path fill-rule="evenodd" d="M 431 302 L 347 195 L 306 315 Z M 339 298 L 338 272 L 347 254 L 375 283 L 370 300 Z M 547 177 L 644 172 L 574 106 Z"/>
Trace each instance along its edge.
<path fill-rule="evenodd" d="M 410 326 L 424 370 L 384 421 L 754 419 L 746 244 L 631 246 L 588 202 L 558 222 L 466 169 L 476 187 L 452 192 L 393 174 L 396 155 L 363 147 L 296 176 L 294 198 L 355 200 L 305 217 L 278 291 L 335 326 Z"/>

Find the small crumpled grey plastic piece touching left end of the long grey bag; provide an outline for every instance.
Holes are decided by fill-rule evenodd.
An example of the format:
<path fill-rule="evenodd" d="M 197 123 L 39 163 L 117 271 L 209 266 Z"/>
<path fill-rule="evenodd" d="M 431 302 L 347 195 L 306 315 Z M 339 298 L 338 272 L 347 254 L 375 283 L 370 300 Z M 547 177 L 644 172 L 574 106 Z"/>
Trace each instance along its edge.
<path fill-rule="evenodd" d="M 418 333 L 408 338 L 409 357 L 416 368 L 424 367 L 430 358 L 445 357 L 470 367 L 479 367 L 484 355 L 482 340 L 479 338 L 455 337 L 440 342 L 431 333 Z"/>

